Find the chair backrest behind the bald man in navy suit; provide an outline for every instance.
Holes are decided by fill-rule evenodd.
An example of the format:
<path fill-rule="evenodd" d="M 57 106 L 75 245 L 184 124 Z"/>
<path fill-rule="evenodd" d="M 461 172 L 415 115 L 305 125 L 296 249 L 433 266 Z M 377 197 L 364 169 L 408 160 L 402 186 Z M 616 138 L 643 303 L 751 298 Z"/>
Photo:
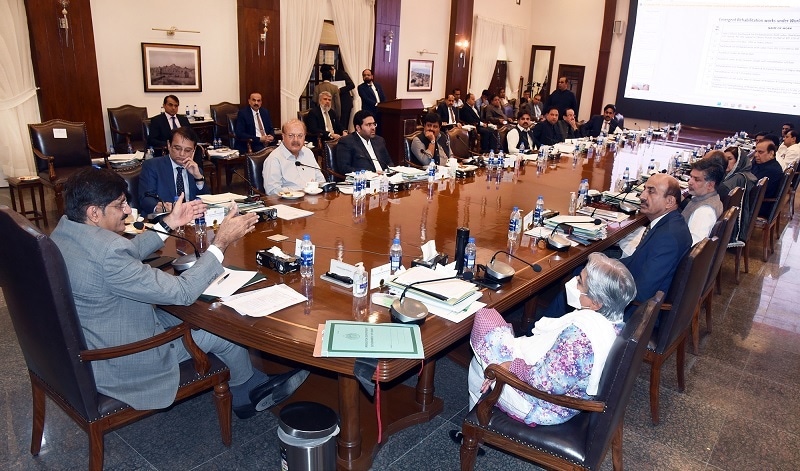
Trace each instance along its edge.
<path fill-rule="evenodd" d="M 656 335 L 656 353 L 666 351 L 689 328 L 719 243 L 716 237 L 701 240 L 678 264 L 666 298 L 672 303 L 672 309 L 661 317 Z"/>

